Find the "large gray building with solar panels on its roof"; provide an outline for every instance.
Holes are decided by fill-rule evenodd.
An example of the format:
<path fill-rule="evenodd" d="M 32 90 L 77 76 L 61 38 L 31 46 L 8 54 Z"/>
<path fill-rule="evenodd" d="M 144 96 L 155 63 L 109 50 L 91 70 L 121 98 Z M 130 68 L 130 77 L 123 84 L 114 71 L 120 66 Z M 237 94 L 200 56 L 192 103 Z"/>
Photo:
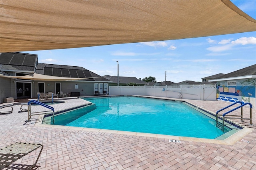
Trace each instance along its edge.
<path fill-rule="evenodd" d="M 28 74 L 55 78 L 22 79 Z M 109 83 L 108 79 L 83 67 L 38 63 L 36 54 L 0 53 L 0 103 L 6 97 L 36 98 L 37 92 L 49 91 L 55 94 L 62 91 L 70 97 L 98 95 L 108 91 Z"/>

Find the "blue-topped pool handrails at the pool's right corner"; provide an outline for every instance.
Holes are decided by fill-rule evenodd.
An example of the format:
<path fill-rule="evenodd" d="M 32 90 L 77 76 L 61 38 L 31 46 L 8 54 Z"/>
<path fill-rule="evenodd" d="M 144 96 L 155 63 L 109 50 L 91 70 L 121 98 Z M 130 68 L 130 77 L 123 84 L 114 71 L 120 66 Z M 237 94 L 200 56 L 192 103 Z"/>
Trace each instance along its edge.
<path fill-rule="evenodd" d="M 223 111 L 237 103 L 240 103 L 241 105 L 230 110 L 230 111 L 227 111 L 226 113 L 224 113 L 223 115 L 218 115 L 218 113 L 220 111 Z M 250 106 L 250 118 L 243 118 L 243 106 L 245 105 L 249 105 Z M 241 115 L 228 115 L 228 113 L 231 113 L 232 111 L 235 111 L 236 109 L 239 109 L 241 108 Z M 218 122 L 218 116 L 222 116 L 222 123 Z M 236 103 L 232 103 L 231 105 L 228 105 L 227 107 L 224 107 L 223 109 L 220 109 L 219 111 L 216 112 L 216 127 L 221 127 L 222 131 L 224 131 L 224 123 L 225 123 L 225 116 L 232 116 L 232 117 L 228 117 L 226 119 L 241 119 L 241 121 L 243 120 L 250 120 L 250 124 L 252 125 L 252 104 L 251 103 L 242 103 L 241 101 L 237 101 Z"/>

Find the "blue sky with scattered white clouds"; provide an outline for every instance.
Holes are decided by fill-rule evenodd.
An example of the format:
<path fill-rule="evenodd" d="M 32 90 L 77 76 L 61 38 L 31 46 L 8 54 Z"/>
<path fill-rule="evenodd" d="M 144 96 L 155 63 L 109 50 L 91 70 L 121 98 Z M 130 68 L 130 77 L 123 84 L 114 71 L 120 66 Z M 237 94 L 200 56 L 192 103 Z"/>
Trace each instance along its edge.
<path fill-rule="evenodd" d="M 256 19 L 256 0 L 232 2 Z M 256 64 L 256 32 L 24 52 L 37 54 L 39 63 L 80 66 L 101 76 L 117 75 L 119 61 L 119 76 L 178 83 Z"/>

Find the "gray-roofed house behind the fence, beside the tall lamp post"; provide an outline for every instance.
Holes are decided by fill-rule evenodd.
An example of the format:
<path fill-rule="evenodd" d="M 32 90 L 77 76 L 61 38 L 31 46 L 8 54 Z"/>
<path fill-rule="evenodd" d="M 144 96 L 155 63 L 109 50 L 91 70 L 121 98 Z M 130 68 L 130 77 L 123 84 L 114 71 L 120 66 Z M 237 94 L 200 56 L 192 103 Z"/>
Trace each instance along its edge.
<path fill-rule="evenodd" d="M 102 77 L 104 77 L 105 79 L 108 79 L 109 81 L 111 81 L 109 83 L 110 86 L 117 86 L 117 76 L 104 75 Z M 123 77 L 123 76 L 119 76 L 118 79 L 119 79 L 119 85 L 120 86 L 127 86 L 130 83 L 136 83 L 136 85 L 138 85 L 138 86 L 142 86 L 142 85 L 144 86 L 144 84 L 146 83 L 144 81 L 141 81 L 141 80 L 137 79 L 136 77 Z"/>

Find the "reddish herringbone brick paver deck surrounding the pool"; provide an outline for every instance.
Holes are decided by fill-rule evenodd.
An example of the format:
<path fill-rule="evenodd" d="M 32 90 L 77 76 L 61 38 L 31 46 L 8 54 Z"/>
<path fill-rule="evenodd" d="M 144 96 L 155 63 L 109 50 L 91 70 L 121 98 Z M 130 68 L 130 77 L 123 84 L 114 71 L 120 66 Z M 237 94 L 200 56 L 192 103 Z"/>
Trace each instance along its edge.
<path fill-rule="evenodd" d="M 68 103 L 78 103 L 73 100 L 68 100 Z M 221 101 L 186 101 L 213 113 L 229 105 Z M 253 125 L 249 125 L 248 120 L 244 123 L 252 129 L 242 138 L 249 143 L 238 140 L 232 145 L 225 145 L 192 141 L 174 143 L 169 142 L 169 138 L 38 126 L 38 116 L 33 116 L 31 122 L 25 122 L 27 112 L 20 112 L 20 105 L 14 105 L 13 113 L 0 115 L 0 147 L 17 141 L 43 144 L 37 164 L 40 170 L 252 170 L 256 169 L 255 114 L 253 110 Z M 249 109 L 244 108 L 244 117 L 248 116 Z M 16 166 L 33 164 L 38 152 L 17 160 Z"/>

